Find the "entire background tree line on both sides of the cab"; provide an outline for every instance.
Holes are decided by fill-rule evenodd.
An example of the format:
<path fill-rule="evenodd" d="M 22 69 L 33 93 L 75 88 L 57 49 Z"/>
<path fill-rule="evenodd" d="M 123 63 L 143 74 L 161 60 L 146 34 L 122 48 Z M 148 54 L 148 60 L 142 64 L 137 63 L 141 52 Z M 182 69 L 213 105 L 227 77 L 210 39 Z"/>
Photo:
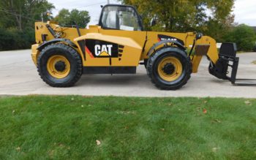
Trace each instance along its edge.
<path fill-rule="evenodd" d="M 234 22 L 234 0 L 119 1 L 138 9 L 148 31 L 197 31 L 217 39 L 217 42 L 236 42 L 238 50 L 251 51 L 255 47 L 255 31 Z M 0 50 L 29 48 L 34 43 L 34 22 L 42 18 L 51 18 L 61 26 L 77 23 L 81 28 L 90 21 L 89 12 L 78 9 L 61 9 L 54 18 L 44 14 L 53 9 L 55 6 L 47 0 L 1 0 Z M 157 25 L 150 25 L 152 18 L 157 20 Z"/>

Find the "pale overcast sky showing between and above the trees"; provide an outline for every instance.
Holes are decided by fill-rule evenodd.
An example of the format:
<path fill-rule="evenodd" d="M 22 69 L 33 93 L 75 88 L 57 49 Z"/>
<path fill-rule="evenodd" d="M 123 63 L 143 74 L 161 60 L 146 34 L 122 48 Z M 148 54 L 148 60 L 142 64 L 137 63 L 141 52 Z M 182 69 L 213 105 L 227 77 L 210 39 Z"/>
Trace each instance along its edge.
<path fill-rule="evenodd" d="M 59 9 L 79 9 L 87 10 L 91 16 L 89 24 L 97 24 L 101 11 L 100 5 L 107 4 L 107 0 L 48 0 L 54 4 L 56 9 L 53 15 L 56 15 Z M 111 4 L 117 4 L 116 0 L 110 0 Z M 234 13 L 237 23 L 245 23 L 249 26 L 256 26 L 256 1 L 255 0 L 236 0 Z"/>

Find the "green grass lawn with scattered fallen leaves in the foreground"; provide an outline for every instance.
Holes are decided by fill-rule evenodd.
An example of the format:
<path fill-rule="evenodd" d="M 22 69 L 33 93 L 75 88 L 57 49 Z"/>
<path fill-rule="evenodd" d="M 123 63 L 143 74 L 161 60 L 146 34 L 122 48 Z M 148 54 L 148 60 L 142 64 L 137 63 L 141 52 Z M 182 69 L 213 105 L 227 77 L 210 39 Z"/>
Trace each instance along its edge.
<path fill-rule="evenodd" d="M 256 159 L 256 99 L 0 97 L 0 159 Z"/>

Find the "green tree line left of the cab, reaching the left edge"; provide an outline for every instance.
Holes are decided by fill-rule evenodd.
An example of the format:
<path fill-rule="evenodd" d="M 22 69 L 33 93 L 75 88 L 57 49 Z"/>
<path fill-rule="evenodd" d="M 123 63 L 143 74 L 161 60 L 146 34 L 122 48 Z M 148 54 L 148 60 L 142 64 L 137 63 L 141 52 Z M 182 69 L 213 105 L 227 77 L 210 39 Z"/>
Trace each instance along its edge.
<path fill-rule="evenodd" d="M 89 12 L 61 9 L 55 18 L 45 14 L 55 9 L 47 0 L 1 0 L 0 1 L 0 50 L 27 49 L 35 43 L 34 22 L 42 19 L 58 20 L 60 25 L 72 26 L 74 21 L 86 27 Z"/>

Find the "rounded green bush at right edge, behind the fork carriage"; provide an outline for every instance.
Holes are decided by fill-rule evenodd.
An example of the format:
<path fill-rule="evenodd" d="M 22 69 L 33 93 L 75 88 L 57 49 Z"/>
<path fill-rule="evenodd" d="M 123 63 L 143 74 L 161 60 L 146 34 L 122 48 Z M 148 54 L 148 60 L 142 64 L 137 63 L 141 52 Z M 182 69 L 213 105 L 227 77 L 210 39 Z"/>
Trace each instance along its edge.
<path fill-rule="evenodd" d="M 252 27 L 241 24 L 225 35 L 227 42 L 236 42 L 238 50 L 252 51 L 256 42 L 256 34 Z"/>

